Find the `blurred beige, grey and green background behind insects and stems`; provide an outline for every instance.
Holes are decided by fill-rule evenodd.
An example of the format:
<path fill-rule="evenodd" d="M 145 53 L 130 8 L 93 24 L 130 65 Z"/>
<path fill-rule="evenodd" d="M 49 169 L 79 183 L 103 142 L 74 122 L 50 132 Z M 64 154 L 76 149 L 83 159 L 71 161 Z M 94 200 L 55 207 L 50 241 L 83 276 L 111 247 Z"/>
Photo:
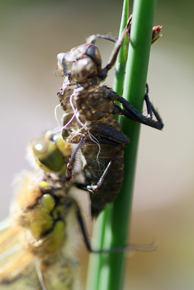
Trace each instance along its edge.
<path fill-rule="evenodd" d="M 54 108 L 62 82 L 53 74 L 57 54 L 85 43 L 85 37 L 95 33 L 118 36 L 123 1 L 1 0 L 0 4 L 3 219 L 9 212 L 13 177 L 31 170 L 26 146 L 57 126 Z M 160 0 L 156 7 L 154 26 L 163 25 L 163 36 L 151 48 L 147 82 L 165 127 L 157 131 L 141 126 L 130 241 L 157 240 L 159 247 L 129 255 L 125 290 L 194 289 L 193 13 L 194 3 L 189 0 Z M 98 40 L 97 46 L 106 65 L 113 43 Z M 106 79 L 110 86 L 113 75 L 114 69 Z M 82 199 L 87 211 L 87 196 Z M 89 211 L 87 222 L 91 229 Z M 88 253 L 83 244 L 78 257 L 84 289 Z"/>

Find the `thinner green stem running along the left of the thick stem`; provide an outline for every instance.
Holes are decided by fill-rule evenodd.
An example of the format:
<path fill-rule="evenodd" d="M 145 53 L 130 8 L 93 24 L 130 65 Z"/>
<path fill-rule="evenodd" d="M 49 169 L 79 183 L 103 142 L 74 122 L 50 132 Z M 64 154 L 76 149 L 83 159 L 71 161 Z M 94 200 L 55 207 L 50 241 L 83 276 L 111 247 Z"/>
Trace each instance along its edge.
<path fill-rule="evenodd" d="M 120 31 L 119 36 L 122 34 L 125 26 L 127 25 L 129 15 L 129 0 L 124 0 L 123 2 L 123 11 L 122 11 L 122 18 L 121 18 L 121 25 L 120 25 Z M 127 36 L 127 35 L 126 35 Z M 115 77 L 113 81 L 113 90 L 117 92 L 118 94 L 122 95 L 123 92 L 123 81 L 124 81 L 124 74 L 125 74 L 125 67 L 127 62 L 127 54 L 128 54 L 128 37 L 125 37 L 124 42 L 120 48 L 120 51 L 118 53 L 117 61 L 115 64 L 116 72 Z M 118 102 L 119 103 L 119 102 Z M 120 103 L 119 103 L 120 104 Z M 115 116 L 116 119 L 118 119 L 119 116 Z M 103 245 L 106 246 L 106 248 L 110 247 L 110 241 L 111 241 L 111 212 L 112 212 L 113 204 L 107 205 L 105 210 L 100 213 L 98 216 L 92 232 L 92 245 L 95 249 L 102 249 Z M 108 218 L 109 217 L 109 218 Z M 107 229 L 109 225 L 109 243 L 107 242 Z M 104 229 L 106 227 L 106 243 L 104 241 Z M 97 290 L 97 289 L 106 289 L 107 283 L 108 283 L 108 271 L 109 266 L 108 264 L 108 255 L 96 255 L 96 254 L 90 254 L 89 258 L 89 264 L 88 264 L 88 275 L 87 275 L 87 283 L 86 283 L 86 289 L 87 290 Z M 103 262 L 102 262 L 103 259 Z M 106 260 L 106 262 L 105 262 Z M 104 267 L 101 267 L 102 264 L 104 264 Z M 102 277 L 103 278 L 100 278 Z M 103 285 L 100 285 L 101 288 L 99 288 L 99 280 L 103 280 Z"/>

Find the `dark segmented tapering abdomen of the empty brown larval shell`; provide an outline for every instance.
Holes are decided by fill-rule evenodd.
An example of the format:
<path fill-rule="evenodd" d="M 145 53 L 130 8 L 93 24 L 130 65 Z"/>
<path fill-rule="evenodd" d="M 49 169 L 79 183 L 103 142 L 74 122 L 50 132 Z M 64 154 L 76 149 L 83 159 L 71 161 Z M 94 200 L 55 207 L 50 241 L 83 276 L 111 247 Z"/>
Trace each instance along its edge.
<path fill-rule="evenodd" d="M 97 145 L 86 144 L 82 149 L 83 155 L 86 159 L 86 165 L 83 168 L 83 173 L 86 179 L 86 182 L 97 183 L 101 177 L 104 169 L 108 165 L 109 161 L 118 153 L 122 146 L 113 147 L 113 146 L 100 146 L 101 150 L 98 155 L 99 147 Z M 95 217 L 99 214 L 106 203 L 111 203 L 117 197 L 121 186 L 124 175 L 124 151 L 121 150 L 117 155 L 111 167 L 108 170 L 108 173 L 105 177 L 105 181 L 102 183 L 98 191 L 95 193 L 90 193 L 91 200 L 91 214 L 92 217 Z M 102 165 L 104 164 L 104 166 Z"/>

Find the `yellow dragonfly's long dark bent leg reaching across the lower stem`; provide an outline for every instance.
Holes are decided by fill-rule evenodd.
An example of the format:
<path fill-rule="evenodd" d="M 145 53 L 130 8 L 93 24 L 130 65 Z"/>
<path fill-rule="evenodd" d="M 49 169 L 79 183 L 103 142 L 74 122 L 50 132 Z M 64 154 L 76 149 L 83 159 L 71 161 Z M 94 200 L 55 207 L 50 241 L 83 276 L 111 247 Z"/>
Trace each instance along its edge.
<path fill-rule="evenodd" d="M 83 217 L 81 215 L 81 211 L 79 209 L 79 206 L 76 204 L 77 209 L 76 209 L 76 215 L 77 215 L 77 219 L 80 225 L 80 229 L 81 229 L 81 233 L 83 235 L 83 239 L 84 242 L 86 244 L 86 247 L 88 249 L 88 251 L 90 253 L 96 253 L 96 254 L 100 254 L 100 253 L 104 253 L 104 254 L 108 254 L 108 253 L 118 253 L 118 252 L 122 252 L 122 251 L 128 251 L 128 250 L 136 250 L 136 251 L 153 251 L 157 248 L 157 244 L 149 244 L 149 245 L 138 245 L 138 244 L 130 244 L 127 246 L 120 246 L 120 247 L 115 247 L 112 249 L 102 249 L 102 250 L 93 250 L 90 244 L 90 240 L 88 238 L 88 234 L 86 231 L 86 227 L 85 227 L 85 223 L 83 221 Z"/>

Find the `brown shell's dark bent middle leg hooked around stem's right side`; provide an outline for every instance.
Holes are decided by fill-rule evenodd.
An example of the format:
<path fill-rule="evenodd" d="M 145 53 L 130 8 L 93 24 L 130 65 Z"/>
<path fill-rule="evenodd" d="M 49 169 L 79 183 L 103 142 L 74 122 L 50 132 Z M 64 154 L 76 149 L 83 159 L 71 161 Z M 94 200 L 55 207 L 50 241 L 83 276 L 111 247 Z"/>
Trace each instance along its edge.
<path fill-rule="evenodd" d="M 111 99 L 113 101 L 119 101 L 122 103 L 124 108 L 126 110 L 121 109 L 118 105 L 115 105 L 115 108 L 113 110 L 113 114 L 116 115 L 124 115 L 128 119 L 134 120 L 136 122 L 140 122 L 142 124 L 145 124 L 147 126 L 151 126 L 153 128 L 161 130 L 164 126 L 162 119 L 159 115 L 159 113 L 154 108 L 154 105 L 149 101 L 148 97 L 148 85 L 146 84 L 146 92 L 145 92 L 145 101 L 147 105 L 147 117 L 142 115 L 136 108 L 134 108 L 129 102 L 127 102 L 126 99 L 119 96 L 117 93 L 115 93 L 113 90 L 110 90 L 110 93 L 108 94 L 108 99 Z M 120 109 L 119 109 L 120 108 Z M 154 113 L 157 121 L 152 120 L 152 113 Z"/>

